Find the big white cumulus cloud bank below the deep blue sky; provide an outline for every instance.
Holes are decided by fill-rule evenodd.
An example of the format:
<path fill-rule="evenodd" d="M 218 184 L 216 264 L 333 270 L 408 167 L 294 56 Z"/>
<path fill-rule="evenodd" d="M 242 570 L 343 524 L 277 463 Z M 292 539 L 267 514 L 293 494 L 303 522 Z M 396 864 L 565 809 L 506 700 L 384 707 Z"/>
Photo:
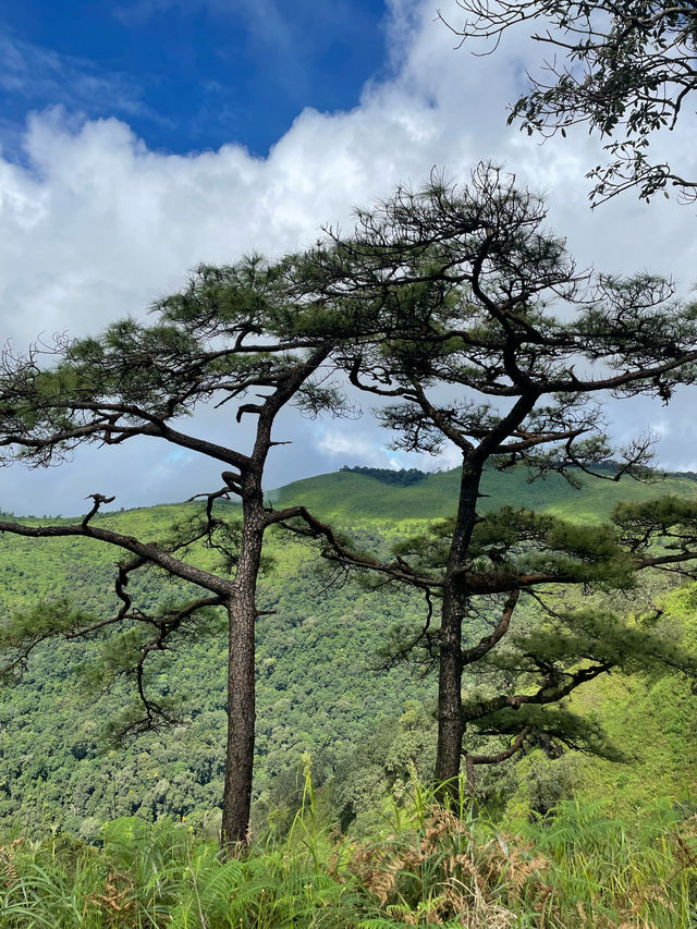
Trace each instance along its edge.
<path fill-rule="evenodd" d="M 39 332 L 80 334 L 125 314 L 142 316 L 199 261 L 229 261 L 254 249 L 270 255 L 296 249 L 316 236 L 321 223 L 346 228 L 355 204 L 389 195 L 400 182 L 418 184 L 433 166 L 466 180 L 480 158 L 505 162 L 523 182 L 546 193 L 550 223 L 567 236 L 582 265 L 672 272 L 684 289 L 693 282 L 693 209 L 672 200 L 646 206 L 625 195 L 590 211 L 584 174 L 599 160 L 595 139 L 579 134 L 540 146 L 506 129 L 505 105 L 519 90 L 533 54 L 522 34 L 497 56 L 473 58 L 455 51 L 452 35 L 435 22 L 433 0 L 392 0 L 390 5 L 393 75 L 366 85 L 359 106 L 350 112 L 303 111 L 265 159 L 234 140 L 218 151 L 164 155 L 148 150 L 114 118 L 85 121 L 63 109 L 30 115 L 23 162 L 0 160 L 4 335 L 23 345 Z M 696 135 L 688 127 L 676 150 L 697 150 Z M 677 404 L 676 416 L 685 403 Z M 668 424 L 671 415 L 665 414 Z M 272 464 L 270 485 L 335 466 L 339 440 L 330 448 L 327 437 L 343 442 L 358 428 L 360 441 L 347 440 L 352 448 L 360 448 L 366 462 L 375 455 L 384 460 L 384 433 L 365 420 L 360 427 L 332 427 L 331 433 L 294 423 L 284 420 L 283 428 L 304 437 L 305 451 L 311 444 L 311 459 L 289 453 L 284 464 Z M 683 455 L 675 430 L 664 431 L 663 459 L 677 464 L 694 459 L 692 451 Z M 683 432 L 681 442 L 686 438 Z M 144 476 L 160 468 L 160 499 L 201 489 L 195 466 L 168 463 L 167 452 L 152 443 L 124 450 L 123 462 L 131 461 Z M 91 457 L 78 456 L 73 465 L 74 500 L 73 488 L 91 464 Z M 113 469 L 114 479 L 119 470 L 123 465 Z M 51 489 L 44 477 L 26 490 L 35 477 L 5 473 L 5 493 L 33 499 L 35 512 L 70 505 L 60 480 Z M 85 487 L 85 492 L 95 489 Z M 123 502 L 140 502 L 140 490 L 124 486 L 121 492 Z M 0 505 L 8 505 L 4 499 Z"/>

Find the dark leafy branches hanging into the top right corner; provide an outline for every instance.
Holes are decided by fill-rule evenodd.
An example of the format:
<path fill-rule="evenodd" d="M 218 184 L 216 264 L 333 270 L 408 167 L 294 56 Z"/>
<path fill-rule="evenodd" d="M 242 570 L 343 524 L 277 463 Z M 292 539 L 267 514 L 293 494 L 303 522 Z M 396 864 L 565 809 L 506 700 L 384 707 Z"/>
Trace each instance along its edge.
<path fill-rule="evenodd" d="M 587 176 L 601 203 L 636 188 L 650 199 L 675 188 L 697 197 L 697 178 L 668 161 L 652 161 L 653 133 L 674 130 L 697 89 L 697 11 L 690 0 L 455 0 L 467 20 L 439 12 L 461 38 L 493 53 L 504 34 L 530 24 L 531 38 L 549 57 L 528 73 L 530 90 L 511 107 L 509 122 L 528 134 L 566 134 L 588 125 L 602 138 L 610 160 Z M 694 103 L 693 103 L 694 109 Z"/>

